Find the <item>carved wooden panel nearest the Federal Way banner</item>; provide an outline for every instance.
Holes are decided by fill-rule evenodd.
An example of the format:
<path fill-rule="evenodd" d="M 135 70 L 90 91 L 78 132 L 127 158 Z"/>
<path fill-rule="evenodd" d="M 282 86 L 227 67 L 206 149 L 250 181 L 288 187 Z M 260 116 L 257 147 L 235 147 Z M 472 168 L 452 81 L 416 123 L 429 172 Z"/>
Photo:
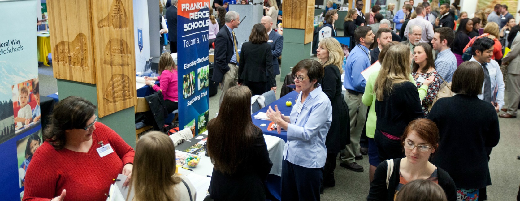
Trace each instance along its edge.
<path fill-rule="evenodd" d="M 54 77 L 96 84 L 89 1 L 53 0 L 47 6 Z"/>

